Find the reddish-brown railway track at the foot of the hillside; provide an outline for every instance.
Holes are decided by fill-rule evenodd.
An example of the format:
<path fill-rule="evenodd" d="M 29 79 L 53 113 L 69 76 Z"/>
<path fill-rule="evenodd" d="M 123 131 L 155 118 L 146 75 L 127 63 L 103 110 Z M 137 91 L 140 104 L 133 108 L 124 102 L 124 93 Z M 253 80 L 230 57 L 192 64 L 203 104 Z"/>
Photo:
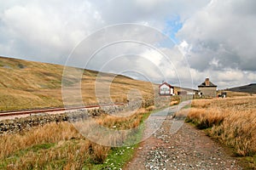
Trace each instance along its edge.
<path fill-rule="evenodd" d="M 47 109 L 39 109 L 39 110 L 26 110 L 26 111 L 3 111 L 0 112 L 0 117 L 3 116 L 21 116 L 21 115 L 30 115 L 30 114 L 37 114 L 37 113 L 45 113 L 45 112 L 53 112 L 53 111 L 71 111 L 71 110 L 79 110 L 79 109 L 90 109 L 90 108 L 97 108 L 102 106 L 118 106 L 118 105 L 125 105 L 125 103 L 116 103 L 116 104 L 108 104 L 108 105 L 84 105 L 84 106 L 70 106 L 67 108 L 47 108 Z"/>

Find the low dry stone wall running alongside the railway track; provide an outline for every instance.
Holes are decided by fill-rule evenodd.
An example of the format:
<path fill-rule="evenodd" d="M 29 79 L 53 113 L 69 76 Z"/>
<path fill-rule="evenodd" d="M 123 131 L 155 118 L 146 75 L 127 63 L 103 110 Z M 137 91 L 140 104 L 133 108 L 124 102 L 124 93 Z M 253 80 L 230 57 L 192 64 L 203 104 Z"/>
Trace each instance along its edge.
<path fill-rule="evenodd" d="M 119 106 L 103 106 L 94 109 L 83 109 L 78 111 L 67 111 L 61 114 L 36 114 L 11 120 L 0 121 L 0 133 L 16 133 L 22 130 L 28 130 L 32 127 L 43 126 L 49 122 L 73 122 L 86 119 L 102 114 L 114 114 L 124 111 L 134 111 L 139 108 L 147 108 L 154 105 L 160 108 L 170 104 L 171 97 L 157 97 L 156 99 L 148 99 L 145 101 L 130 101 L 129 104 Z"/>

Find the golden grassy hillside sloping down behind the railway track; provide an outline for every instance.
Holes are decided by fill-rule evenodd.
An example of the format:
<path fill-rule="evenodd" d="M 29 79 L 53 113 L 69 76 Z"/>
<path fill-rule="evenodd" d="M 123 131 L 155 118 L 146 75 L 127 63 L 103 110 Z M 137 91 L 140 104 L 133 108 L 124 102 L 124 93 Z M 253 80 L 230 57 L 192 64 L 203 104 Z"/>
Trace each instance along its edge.
<path fill-rule="evenodd" d="M 0 57 L 0 111 L 62 106 L 63 68 L 62 65 Z M 98 103 L 95 95 L 97 75 L 96 71 L 84 70 L 81 91 L 85 105 Z M 103 74 L 102 83 L 109 82 L 112 77 L 113 74 Z M 79 88 L 78 84 L 71 86 Z M 150 82 L 116 76 L 110 86 L 112 101 L 126 101 L 127 94 L 133 88 L 138 89 L 143 98 L 150 98 L 154 94 Z M 79 104 L 76 101 L 73 103 Z"/>

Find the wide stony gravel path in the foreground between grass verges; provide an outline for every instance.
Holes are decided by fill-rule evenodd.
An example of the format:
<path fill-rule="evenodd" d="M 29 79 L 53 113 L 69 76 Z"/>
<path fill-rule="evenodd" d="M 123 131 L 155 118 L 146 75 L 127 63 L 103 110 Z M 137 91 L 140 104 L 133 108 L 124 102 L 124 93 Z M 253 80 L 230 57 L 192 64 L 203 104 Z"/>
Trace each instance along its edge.
<path fill-rule="evenodd" d="M 242 169 L 204 132 L 183 123 L 172 134 L 172 124 L 172 116 L 165 116 L 160 129 L 140 144 L 125 169 Z"/>

